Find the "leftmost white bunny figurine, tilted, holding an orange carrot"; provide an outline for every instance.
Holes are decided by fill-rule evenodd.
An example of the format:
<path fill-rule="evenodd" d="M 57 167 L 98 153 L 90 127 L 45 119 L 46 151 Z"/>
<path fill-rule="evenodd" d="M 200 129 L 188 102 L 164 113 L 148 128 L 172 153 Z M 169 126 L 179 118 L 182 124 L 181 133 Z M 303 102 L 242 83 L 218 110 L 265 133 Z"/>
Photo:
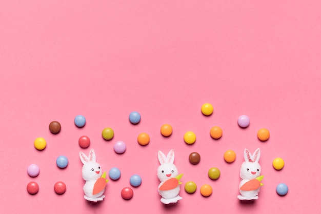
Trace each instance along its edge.
<path fill-rule="evenodd" d="M 93 149 L 90 149 L 89 156 L 83 152 L 79 152 L 81 161 L 83 162 L 83 179 L 86 181 L 84 185 L 84 198 L 91 202 L 103 201 L 103 195 L 106 187 L 106 172 L 103 173 L 101 165 L 96 162 L 96 155 Z"/>

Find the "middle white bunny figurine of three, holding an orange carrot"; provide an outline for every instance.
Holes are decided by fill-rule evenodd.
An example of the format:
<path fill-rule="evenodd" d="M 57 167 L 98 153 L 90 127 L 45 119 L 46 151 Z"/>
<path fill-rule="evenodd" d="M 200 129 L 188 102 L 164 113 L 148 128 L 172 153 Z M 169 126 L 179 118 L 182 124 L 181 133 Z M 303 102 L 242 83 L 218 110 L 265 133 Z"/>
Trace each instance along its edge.
<path fill-rule="evenodd" d="M 178 170 L 174 163 L 174 150 L 170 150 L 165 156 L 162 151 L 158 151 L 158 161 L 160 166 L 157 169 L 157 177 L 160 181 L 158 186 L 158 192 L 162 199 L 161 202 L 164 204 L 176 203 L 182 197 L 178 196 L 179 193 L 179 184 L 182 182 L 179 181 L 182 178 L 183 174 L 178 174 Z"/>

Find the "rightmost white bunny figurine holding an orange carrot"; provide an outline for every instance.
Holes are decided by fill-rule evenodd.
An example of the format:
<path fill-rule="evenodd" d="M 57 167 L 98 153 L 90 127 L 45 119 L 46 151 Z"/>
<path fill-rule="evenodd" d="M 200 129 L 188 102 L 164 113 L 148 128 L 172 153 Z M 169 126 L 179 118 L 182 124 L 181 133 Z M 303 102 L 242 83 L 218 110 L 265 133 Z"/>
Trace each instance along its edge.
<path fill-rule="evenodd" d="M 240 178 L 239 192 L 240 195 L 237 196 L 239 200 L 256 200 L 258 199 L 258 192 L 263 176 L 261 174 L 261 166 L 258 164 L 260 157 L 260 150 L 257 148 L 253 155 L 247 149 L 244 150 L 244 159 L 240 168 Z"/>

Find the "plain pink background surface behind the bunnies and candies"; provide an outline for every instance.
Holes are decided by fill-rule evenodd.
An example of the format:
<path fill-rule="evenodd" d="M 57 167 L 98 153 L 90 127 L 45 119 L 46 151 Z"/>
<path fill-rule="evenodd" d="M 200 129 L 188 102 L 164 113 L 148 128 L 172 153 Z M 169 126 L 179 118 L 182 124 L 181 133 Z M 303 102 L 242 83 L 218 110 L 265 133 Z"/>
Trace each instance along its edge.
<path fill-rule="evenodd" d="M 320 210 L 321 143 L 321 3 L 320 1 L 1 1 L 0 4 L 0 143 L 1 213 L 315 213 Z M 204 103 L 214 106 L 204 116 Z M 142 121 L 130 124 L 138 111 Z M 73 119 L 86 116 L 84 128 Z M 237 125 L 241 114 L 251 124 Z M 53 135 L 53 120 L 62 131 Z M 169 123 L 173 134 L 160 135 Z M 212 126 L 223 129 L 213 140 Z M 112 127 L 105 141 L 101 131 Z M 268 128 L 271 137 L 260 142 L 256 132 Z M 183 141 L 196 133 L 193 145 Z M 147 132 L 143 147 L 137 135 Z M 78 138 L 88 135 L 97 161 L 107 172 L 118 167 L 122 177 L 110 181 L 106 198 L 85 201 Z M 47 147 L 38 151 L 34 139 Z M 113 145 L 124 141 L 127 150 L 116 154 Z M 259 200 L 237 199 L 239 168 L 244 148 L 262 150 L 265 176 Z M 182 178 L 183 200 L 164 206 L 157 192 L 157 151 L 175 151 Z M 227 164 L 226 150 L 236 152 Z M 202 158 L 188 161 L 190 152 Z M 66 155 L 69 165 L 55 160 Z M 285 160 L 276 171 L 274 158 Z M 27 174 L 30 164 L 40 174 Z M 207 176 L 218 167 L 221 176 Z M 143 183 L 134 197 L 121 198 L 132 174 Z M 187 181 L 197 191 L 184 191 Z M 30 181 L 39 184 L 34 196 Z M 53 184 L 63 181 L 67 191 L 57 195 Z M 285 197 L 276 185 L 289 186 Z M 202 197 L 199 188 L 210 184 L 213 193 Z"/>

